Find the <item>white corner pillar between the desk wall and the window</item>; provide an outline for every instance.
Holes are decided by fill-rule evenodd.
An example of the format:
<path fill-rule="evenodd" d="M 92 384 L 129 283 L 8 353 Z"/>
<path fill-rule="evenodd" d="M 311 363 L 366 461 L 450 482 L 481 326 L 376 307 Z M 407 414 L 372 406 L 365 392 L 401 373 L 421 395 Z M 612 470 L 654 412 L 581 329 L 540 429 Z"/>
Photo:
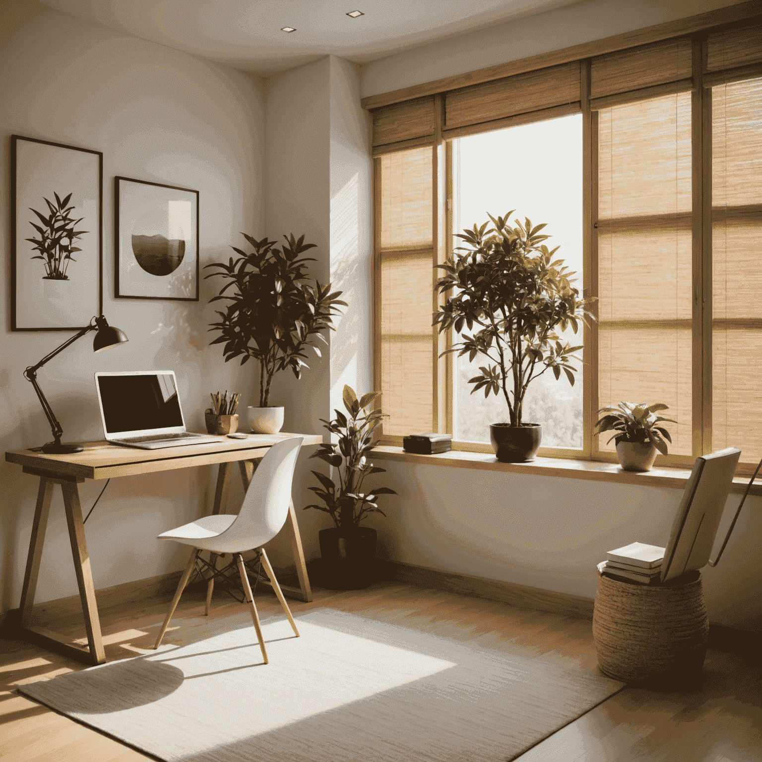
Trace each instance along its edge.
<path fill-rule="evenodd" d="M 348 304 L 335 319 L 322 357 L 309 350 L 309 370 L 298 381 L 280 373 L 271 404 L 286 406 L 285 431 L 327 433 L 328 420 L 341 405 L 348 383 L 370 390 L 372 212 L 367 114 L 360 107 L 357 66 L 325 59 L 267 78 L 266 181 L 267 235 L 286 232 L 318 245 L 307 252 L 318 261 L 311 271 L 331 282 Z M 307 559 L 319 555 L 318 530 L 333 526 L 327 514 L 303 511 L 315 502 L 311 469 L 327 472 L 322 461 L 303 451 L 297 464 L 294 505 Z M 271 549 L 274 563 L 293 562 L 285 540 Z"/>

